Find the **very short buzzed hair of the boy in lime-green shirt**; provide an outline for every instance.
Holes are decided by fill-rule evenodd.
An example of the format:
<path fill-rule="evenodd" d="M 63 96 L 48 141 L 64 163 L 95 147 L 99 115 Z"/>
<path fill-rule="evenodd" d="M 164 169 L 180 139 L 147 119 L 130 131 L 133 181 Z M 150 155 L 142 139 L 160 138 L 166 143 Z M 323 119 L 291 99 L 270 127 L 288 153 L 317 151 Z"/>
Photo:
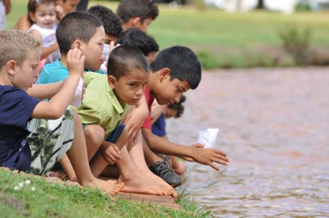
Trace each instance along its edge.
<path fill-rule="evenodd" d="M 107 75 L 117 80 L 133 69 L 140 69 L 147 73 L 150 71 L 149 63 L 143 53 L 134 46 L 118 46 L 111 51 L 107 62 Z"/>

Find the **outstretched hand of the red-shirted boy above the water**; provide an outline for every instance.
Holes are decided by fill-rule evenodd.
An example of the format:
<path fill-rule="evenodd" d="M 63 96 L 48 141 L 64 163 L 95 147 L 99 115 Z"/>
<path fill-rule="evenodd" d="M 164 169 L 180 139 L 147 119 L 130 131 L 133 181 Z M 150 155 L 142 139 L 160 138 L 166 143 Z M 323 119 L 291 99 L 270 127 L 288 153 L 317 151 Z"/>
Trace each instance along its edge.
<path fill-rule="evenodd" d="M 209 165 L 215 170 L 220 170 L 220 167 L 216 166 L 215 163 L 227 166 L 230 162 L 225 152 L 214 148 L 203 147 L 203 144 L 191 145 L 190 148 L 193 149 L 192 157 L 182 158 L 184 158 L 186 161 L 195 161 L 199 164 Z"/>

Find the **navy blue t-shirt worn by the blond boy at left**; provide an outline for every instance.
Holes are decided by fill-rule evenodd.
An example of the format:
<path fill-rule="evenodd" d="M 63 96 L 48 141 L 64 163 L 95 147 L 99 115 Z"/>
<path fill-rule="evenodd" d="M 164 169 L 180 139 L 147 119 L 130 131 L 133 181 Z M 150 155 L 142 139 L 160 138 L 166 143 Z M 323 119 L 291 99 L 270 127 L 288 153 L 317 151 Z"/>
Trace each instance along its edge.
<path fill-rule="evenodd" d="M 22 89 L 0 86 L 0 166 L 28 171 L 31 151 L 26 142 L 27 122 L 40 100 Z"/>

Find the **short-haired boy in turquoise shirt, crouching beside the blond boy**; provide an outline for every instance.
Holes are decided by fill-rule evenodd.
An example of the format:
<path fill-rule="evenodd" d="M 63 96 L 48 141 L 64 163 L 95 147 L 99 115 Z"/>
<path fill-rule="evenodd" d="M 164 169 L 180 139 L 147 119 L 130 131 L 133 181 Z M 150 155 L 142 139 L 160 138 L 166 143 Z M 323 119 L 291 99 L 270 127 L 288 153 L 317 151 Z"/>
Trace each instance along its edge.
<path fill-rule="evenodd" d="M 81 27 L 83 26 L 83 31 Z M 36 84 L 50 84 L 65 81 L 69 75 L 67 68 L 67 52 L 77 48 L 85 56 L 84 68 L 99 72 L 102 63 L 104 45 L 104 28 L 102 22 L 87 12 L 72 12 L 59 23 L 56 38 L 60 47 L 61 59 L 47 64 L 41 71 Z M 106 73 L 106 72 L 102 72 Z M 88 160 L 90 161 L 104 139 L 104 130 L 98 125 L 89 125 L 84 129 Z M 68 175 L 69 179 L 74 179 Z"/>

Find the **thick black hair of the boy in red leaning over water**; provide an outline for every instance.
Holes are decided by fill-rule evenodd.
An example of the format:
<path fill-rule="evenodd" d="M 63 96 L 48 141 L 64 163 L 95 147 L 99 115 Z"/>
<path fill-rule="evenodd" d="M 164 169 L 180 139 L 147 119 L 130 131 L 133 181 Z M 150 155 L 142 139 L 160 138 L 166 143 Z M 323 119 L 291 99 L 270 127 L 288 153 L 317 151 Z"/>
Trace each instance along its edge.
<path fill-rule="evenodd" d="M 191 89 L 196 89 L 201 80 L 201 65 L 194 52 L 182 46 L 163 49 L 151 63 L 153 72 L 170 69 L 170 80 L 177 78 L 187 81 Z"/>

